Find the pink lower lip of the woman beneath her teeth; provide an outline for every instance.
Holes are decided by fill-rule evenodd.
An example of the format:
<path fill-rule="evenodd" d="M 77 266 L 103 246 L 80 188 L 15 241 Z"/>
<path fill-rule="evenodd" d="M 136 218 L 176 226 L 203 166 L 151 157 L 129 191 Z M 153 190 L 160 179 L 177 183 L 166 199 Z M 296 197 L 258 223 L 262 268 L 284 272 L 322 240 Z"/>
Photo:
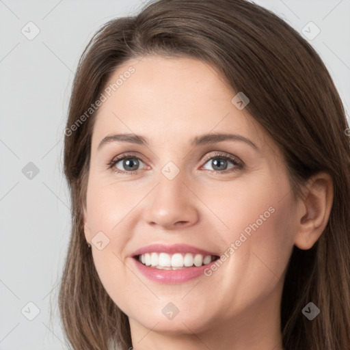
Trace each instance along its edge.
<path fill-rule="evenodd" d="M 137 269 L 139 269 L 139 271 L 146 276 L 146 278 L 149 278 L 155 282 L 171 284 L 187 282 L 189 280 L 193 280 L 193 278 L 199 277 L 200 275 L 204 275 L 204 270 L 210 269 L 211 265 L 213 265 L 216 261 L 213 260 L 211 263 L 200 267 L 186 267 L 185 269 L 180 270 L 162 270 L 157 269 L 156 267 L 148 267 L 143 265 L 137 258 L 133 258 L 133 260 Z"/>

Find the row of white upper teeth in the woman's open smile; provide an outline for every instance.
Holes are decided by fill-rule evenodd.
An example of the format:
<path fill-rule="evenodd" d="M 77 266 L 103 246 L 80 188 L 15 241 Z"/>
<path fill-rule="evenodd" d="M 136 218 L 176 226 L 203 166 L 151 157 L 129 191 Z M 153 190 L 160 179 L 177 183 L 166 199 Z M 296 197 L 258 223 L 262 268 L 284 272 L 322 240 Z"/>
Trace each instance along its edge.
<path fill-rule="evenodd" d="M 167 254 L 167 253 L 146 253 L 139 256 L 143 265 L 164 270 L 185 269 L 195 265 L 200 267 L 215 260 L 215 256 L 202 254 Z"/>

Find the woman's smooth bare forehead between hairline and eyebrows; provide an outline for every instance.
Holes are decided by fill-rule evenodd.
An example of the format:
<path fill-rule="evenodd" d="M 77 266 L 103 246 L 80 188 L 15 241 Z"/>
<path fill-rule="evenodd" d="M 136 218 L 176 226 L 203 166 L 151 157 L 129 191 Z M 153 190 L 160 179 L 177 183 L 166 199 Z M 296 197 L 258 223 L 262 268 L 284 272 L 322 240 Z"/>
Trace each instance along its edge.
<path fill-rule="evenodd" d="M 213 66 L 190 58 L 144 57 L 119 66 L 103 92 L 92 143 L 108 133 L 136 133 L 181 142 L 203 133 L 240 133 L 266 143 L 265 131 Z M 265 136 L 264 138 L 262 138 Z M 271 140 L 270 140 L 271 141 Z"/>

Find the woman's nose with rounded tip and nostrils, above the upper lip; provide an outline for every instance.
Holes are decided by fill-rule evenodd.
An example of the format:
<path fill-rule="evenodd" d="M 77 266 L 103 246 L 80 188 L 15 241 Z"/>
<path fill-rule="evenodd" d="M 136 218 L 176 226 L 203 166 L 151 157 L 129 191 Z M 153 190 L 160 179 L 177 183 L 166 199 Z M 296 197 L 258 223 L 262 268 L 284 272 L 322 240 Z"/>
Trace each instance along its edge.
<path fill-rule="evenodd" d="M 159 176 L 144 208 L 144 220 L 149 225 L 178 230 L 198 221 L 198 197 L 183 182 L 180 174 L 172 180 L 163 174 Z"/>

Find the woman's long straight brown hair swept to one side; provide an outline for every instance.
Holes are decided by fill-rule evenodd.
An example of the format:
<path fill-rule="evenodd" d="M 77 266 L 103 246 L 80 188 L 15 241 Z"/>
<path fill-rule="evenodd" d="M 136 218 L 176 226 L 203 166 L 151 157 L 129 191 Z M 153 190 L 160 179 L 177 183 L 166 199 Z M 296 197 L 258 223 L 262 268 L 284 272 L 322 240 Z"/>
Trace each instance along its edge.
<path fill-rule="evenodd" d="M 81 55 L 64 140 L 72 234 L 59 290 L 59 312 L 72 348 L 132 347 L 129 319 L 103 288 L 83 233 L 96 114 L 86 111 L 120 64 L 152 54 L 200 59 L 217 68 L 234 91 L 244 92 L 250 98 L 247 111 L 284 154 L 295 196 L 313 174 L 332 176 L 334 202 L 323 234 L 310 250 L 293 247 L 281 332 L 286 350 L 349 350 L 350 137 L 345 110 L 312 46 L 281 18 L 245 0 L 150 2 L 136 16 L 103 25 Z M 321 310 L 312 321 L 301 312 L 310 301 Z"/>

